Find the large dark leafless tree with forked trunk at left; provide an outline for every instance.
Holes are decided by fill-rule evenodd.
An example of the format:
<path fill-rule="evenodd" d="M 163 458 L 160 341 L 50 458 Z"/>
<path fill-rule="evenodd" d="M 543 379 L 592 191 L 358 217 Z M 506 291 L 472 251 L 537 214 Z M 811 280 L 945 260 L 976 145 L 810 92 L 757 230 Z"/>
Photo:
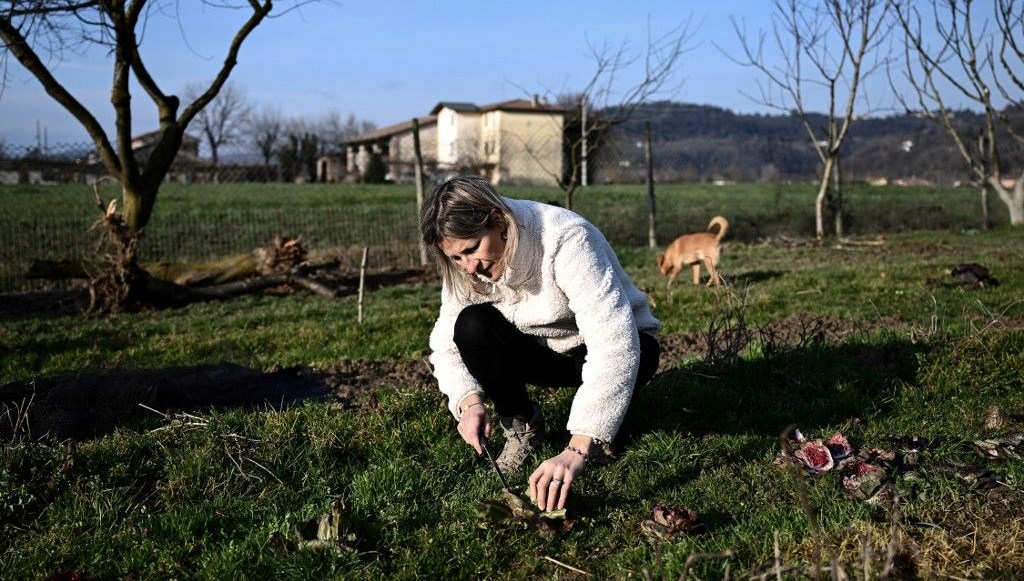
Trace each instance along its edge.
<path fill-rule="evenodd" d="M 0 12 L 0 38 L 4 41 L 0 59 L 13 55 L 47 94 L 82 124 L 99 160 L 121 185 L 122 213 L 118 214 L 112 204 L 105 214 L 112 239 L 121 247 L 116 266 L 124 275 L 118 276 L 124 290 L 119 302 L 139 298 L 133 291 L 140 291 L 146 282 L 144 273 L 138 267 L 138 242 L 142 229 L 150 221 L 160 184 L 181 147 L 185 128 L 224 87 L 238 64 L 242 45 L 273 11 L 270 0 L 210 0 L 205 3 L 210 9 L 233 9 L 245 16 L 227 40 L 216 76 L 205 90 L 185 103 L 165 92 L 142 59 L 142 33 L 146 26 L 157 26 L 157 18 L 151 16 L 166 7 L 163 3 L 147 0 L 11 0 Z M 299 3 L 302 0 L 292 2 L 293 5 Z M 108 135 L 95 112 L 79 100 L 72 88 L 61 84 L 51 70 L 66 51 L 86 44 L 110 50 L 113 135 Z M 132 150 L 133 80 L 156 106 L 159 122 L 155 147 L 144 160 L 136 159 Z"/>

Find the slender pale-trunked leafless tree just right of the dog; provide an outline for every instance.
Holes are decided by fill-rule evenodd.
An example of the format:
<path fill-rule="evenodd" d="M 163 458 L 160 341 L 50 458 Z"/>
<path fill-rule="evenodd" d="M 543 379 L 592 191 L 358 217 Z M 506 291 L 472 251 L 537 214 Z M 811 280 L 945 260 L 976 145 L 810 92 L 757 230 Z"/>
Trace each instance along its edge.
<path fill-rule="evenodd" d="M 800 119 L 821 162 L 815 234 L 818 240 L 824 238 L 824 203 L 830 197 L 836 236 L 842 237 L 840 156 L 858 113 L 858 99 L 870 110 L 862 85 L 885 60 L 881 47 L 888 34 L 889 7 L 886 0 L 772 0 L 772 6 L 770 35 L 761 31 L 751 37 L 732 18 L 743 51 L 736 61 L 764 77 L 758 83 L 760 94 L 752 98 Z M 818 125 L 820 116 L 806 101 L 807 93 L 817 88 L 828 99 L 824 126 Z"/>

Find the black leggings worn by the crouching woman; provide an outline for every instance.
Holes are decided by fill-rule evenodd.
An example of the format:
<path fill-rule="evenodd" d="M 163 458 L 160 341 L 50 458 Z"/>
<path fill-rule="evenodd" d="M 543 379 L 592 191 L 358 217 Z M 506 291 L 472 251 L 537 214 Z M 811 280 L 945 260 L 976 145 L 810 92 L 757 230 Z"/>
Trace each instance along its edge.
<path fill-rule="evenodd" d="M 517 329 L 489 303 L 462 309 L 455 323 L 455 344 L 470 374 L 503 417 L 530 417 L 532 404 L 526 392 L 527 383 L 544 387 L 583 384 L 587 345 L 556 352 L 537 337 Z M 640 369 L 634 390 L 654 376 L 660 355 L 657 339 L 641 332 Z"/>

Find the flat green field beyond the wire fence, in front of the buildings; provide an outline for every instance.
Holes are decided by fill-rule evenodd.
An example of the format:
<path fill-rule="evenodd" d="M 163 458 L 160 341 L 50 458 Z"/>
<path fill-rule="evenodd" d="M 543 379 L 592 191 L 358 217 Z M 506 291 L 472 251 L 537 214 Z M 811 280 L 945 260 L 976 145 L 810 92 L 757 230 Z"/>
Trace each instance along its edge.
<path fill-rule="evenodd" d="M 520 198 L 562 201 L 554 188 L 510 188 Z M 702 230 L 715 214 L 732 224 L 730 239 L 813 237 L 811 184 L 664 184 L 656 190 L 662 241 Z M 110 185 L 105 202 L 117 198 Z M 25 278 L 35 259 L 85 258 L 95 253 L 90 229 L 99 214 L 84 185 L 0 185 L 0 292 L 33 288 Z M 869 236 L 918 230 L 970 230 L 978 225 L 977 194 L 968 189 L 901 189 L 849 185 L 846 234 Z M 581 191 L 575 209 L 617 246 L 647 243 L 643 186 L 605 185 Z M 992 207 L 994 223 L 1006 208 Z M 299 238 L 313 254 L 330 254 L 357 266 L 362 247 L 370 266 L 419 262 L 416 194 L 409 185 L 169 183 L 160 193 L 146 229 L 144 260 L 197 261 L 245 253 L 274 236 Z"/>

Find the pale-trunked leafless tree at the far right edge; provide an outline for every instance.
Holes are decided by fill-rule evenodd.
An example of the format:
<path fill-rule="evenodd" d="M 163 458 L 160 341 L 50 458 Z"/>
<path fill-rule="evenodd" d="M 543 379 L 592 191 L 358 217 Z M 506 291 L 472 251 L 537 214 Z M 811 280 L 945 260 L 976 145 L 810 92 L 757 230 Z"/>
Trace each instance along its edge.
<path fill-rule="evenodd" d="M 1012 225 L 1024 224 L 1024 168 L 1016 182 L 1005 181 L 1009 149 L 1024 146 L 1024 128 L 1014 126 L 1008 111 L 1024 99 L 1024 9 L 1016 0 L 995 0 L 987 16 L 976 18 L 971 0 L 890 0 L 903 33 L 904 78 L 913 88 L 908 111 L 939 124 L 952 140 L 981 193 L 982 227 L 988 227 L 988 193 L 995 192 L 1010 211 Z M 929 18 L 933 28 L 926 29 Z M 929 43 L 929 38 L 935 42 Z M 949 93 L 945 91 L 951 89 Z M 982 110 L 980 127 L 964 127 L 947 96 L 963 97 Z M 898 94 L 898 93 L 897 93 Z M 1008 107 L 993 102 L 1002 97 Z"/>

